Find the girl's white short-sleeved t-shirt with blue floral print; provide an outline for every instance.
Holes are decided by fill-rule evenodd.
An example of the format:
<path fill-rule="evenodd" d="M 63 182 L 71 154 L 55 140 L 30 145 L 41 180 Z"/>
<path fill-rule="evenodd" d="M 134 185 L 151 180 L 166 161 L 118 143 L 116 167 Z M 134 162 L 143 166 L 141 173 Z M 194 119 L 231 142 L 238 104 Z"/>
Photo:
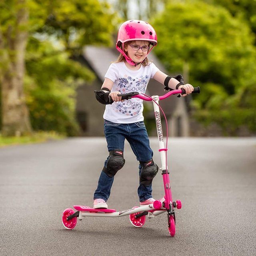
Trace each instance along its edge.
<path fill-rule="evenodd" d="M 130 70 L 124 62 L 112 63 L 106 72 L 105 78 L 114 82 L 111 92 L 119 91 L 121 94 L 128 92 L 145 93 L 150 78 L 159 69 L 154 63 L 142 66 L 138 70 Z M 142 114 L 143 100 L 132 98 L 106 105 L 103 118 L 118 124 L 130 124 L 144 120 Z"/>

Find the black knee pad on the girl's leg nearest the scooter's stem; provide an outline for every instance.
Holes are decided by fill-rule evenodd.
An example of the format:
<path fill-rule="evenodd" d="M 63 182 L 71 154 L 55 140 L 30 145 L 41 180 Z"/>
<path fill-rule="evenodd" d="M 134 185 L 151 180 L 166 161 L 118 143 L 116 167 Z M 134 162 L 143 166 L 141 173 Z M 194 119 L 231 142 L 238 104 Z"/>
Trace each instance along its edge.
<path fill-rule="evenodd" d="M 158 166 L 154 163 L 153 159 L 148 162 L 140 162 L 141 172 L 140 172 L 140 184 L 150 185 L 152 180 L 158 172 Z"/>

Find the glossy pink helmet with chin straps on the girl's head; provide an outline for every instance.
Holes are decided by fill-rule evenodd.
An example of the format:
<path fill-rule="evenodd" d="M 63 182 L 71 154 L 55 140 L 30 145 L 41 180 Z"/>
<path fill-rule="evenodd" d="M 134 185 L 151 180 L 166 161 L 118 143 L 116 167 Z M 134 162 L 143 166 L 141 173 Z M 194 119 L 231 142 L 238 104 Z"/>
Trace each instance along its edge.
<path fill-rule="evenodd" d="M 147 55 L 151 52 L 154 46 L 157 44 L 157 37 L 154 28 L 143 20 L 127 20 L 124 22 L 119 30 L 116 42 L 116 49 L 120 52 L 125 58 L 126 61 L 136 66 L 140 63 L 135 63 L 130 57 L 128 57 L 124 52 L 124 43 L 128 41 L 149 41 L 152 47 L 148 51 Z"/>

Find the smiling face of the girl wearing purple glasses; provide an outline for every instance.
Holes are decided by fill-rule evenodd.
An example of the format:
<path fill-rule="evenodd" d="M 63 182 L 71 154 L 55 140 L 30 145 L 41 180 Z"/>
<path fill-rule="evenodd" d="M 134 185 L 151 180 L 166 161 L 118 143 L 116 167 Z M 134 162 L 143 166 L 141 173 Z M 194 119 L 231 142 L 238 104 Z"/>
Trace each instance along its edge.
<path fill-rule="evenodd" d="M 133 41 L 128 42 L 124 45 L 124 50 L 127 52 L 127 55 L 136 63 L 142 62 L 149 50 L 148 41 Z"/>

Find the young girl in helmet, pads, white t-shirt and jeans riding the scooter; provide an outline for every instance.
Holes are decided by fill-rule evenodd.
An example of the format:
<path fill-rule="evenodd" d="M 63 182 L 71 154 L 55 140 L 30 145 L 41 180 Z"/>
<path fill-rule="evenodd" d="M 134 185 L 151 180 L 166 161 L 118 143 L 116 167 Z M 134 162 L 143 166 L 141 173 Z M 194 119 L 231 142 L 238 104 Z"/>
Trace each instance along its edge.
<path fill-rule="evenodd" d="M 105 75 L 97 100 L 106 104 L 104 134 L 108 144 L 109 156 L 100 174 L 98 187 L 94 192 L 93 208 L 108 208 L 106 204 L 114 181 L 114 176 L 125 163 L 124 140 L 126 139 L 139 164 L 140 185 L 138 196 L 140 205 L 152 204 L 152 180 L 158 172 L 150 148 L 148 134 L 142 115 L 142 100 L 132 98 L 121 100 L 118 94 L 128 92 L 145 93 L 150 78 L 154 78 L 170 89 L 184 88 L 186 96 L 194 88 L 161 72 L 147 55 L 157 44 L 156 32 L 150 24 L 142 20 L 128 20 L 118 30 L 116 49 L 120 56 L 112 63 Z M 114 101 L 110 104 L 109 96 Z"/>

